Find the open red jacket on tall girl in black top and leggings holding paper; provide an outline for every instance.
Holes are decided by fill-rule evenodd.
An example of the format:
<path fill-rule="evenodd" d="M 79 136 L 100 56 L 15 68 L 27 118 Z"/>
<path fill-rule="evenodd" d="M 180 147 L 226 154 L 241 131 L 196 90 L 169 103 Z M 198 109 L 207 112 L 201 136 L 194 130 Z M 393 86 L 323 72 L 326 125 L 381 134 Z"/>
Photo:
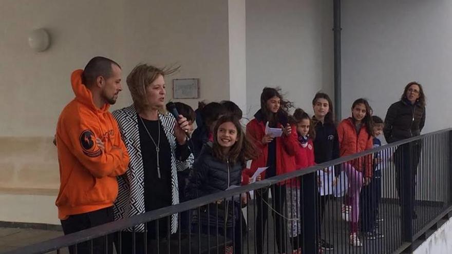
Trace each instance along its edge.
<path fill-rule="evenodd" d="M 268 158 L 268 145 L 264 145 L 261 142 L 263 136 L 265 136 L 266 122 L 262 121 L 260 111 L 254 116 L 255 119 L 247 124 L 247 136 L 256 145 L 258 150 L 261 151 L 261 154 L 257 159 L 253 160 L 251 168 L 245 170 L 245 173 L 248 174 L 249 177 L 252 177 L 258 167 L 267 166 Z M 277 128 L 281 127 L 282 126 L 278 124 Z M 298 140 L 296 127 L 294 125 L 291 127 L 292 134 L 290 136 L 285 136 L 283 134 L 280 138 L 276 138 L 276 175 L 296 170 L 295 154 L 298 149 Z M 265 171 L 261 174 L 261 178 L 265 179 Z"/>

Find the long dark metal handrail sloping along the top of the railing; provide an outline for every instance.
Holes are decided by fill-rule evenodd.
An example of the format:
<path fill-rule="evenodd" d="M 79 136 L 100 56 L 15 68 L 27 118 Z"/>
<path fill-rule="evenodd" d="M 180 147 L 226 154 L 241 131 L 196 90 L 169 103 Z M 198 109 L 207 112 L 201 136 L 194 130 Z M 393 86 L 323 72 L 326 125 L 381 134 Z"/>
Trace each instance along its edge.
<path fill-rule="evenodd" d="M 284 181 L 287 181 L 287 180 L 290 180 L 293 178 L 301 177 L 302 175 L 310 174 L 310 173 L 316 172 L 318 170 L 321 170 L 321 169 L 324 169 L 324 168 L 327 168 L 330 166 L 340 165 L 340 164 L 352 161 L 354 159 L 358 159 L 358 158 L 364 157 L 366 155 L 373 154 L 375 152 L 387 150 L 390 148 L 396 148 L 403 144 L 422 140 L 428 136 L 432 136 L 432 135 L 436 135 L 436 134 L 444 133 L 444 132 L 448 132 L 448 131 L 452 131 L 452 128 L 447 128 L 447 129 L 438 130 L 435 132 L 426 133 L 426 134 L 423 134 L 420 136 L 415 136 L 413 138 L 401 140 L 401 141 L 383 145 L 383 146 L 380 146 L 377 148 L 369 149 L 369 150 L 366 150 L 363 152 L 355 153 L 355 154 L 352 154 L 352 155 L 349 155 L 346 157 L 341 157 L 341 158 L 331 160 L 331 161 L 328 161 L 325 163 L 317 164 L 315 166 L 305 168 L 303 170 L 295 170 L 293 172 L 276 175 L 275 177 L 265 179 L 262 181 L 258 181 L 258 182 L 252 183 L 252 184 L 243 185 L 243 186 L 233 188 L 230 190 L 225 190 L 225 191 L 221 191 L 218 193 L 210 194 L 208 196 L 204 196 L 204 197 L 200 197 L 200 198 L 193 199 L 190 201 L 186 201 L 186 202 L 183 202 L 183 203 L 180 203 L 177 205 L 167 206 L 167 207 L 160 208 L 157 210 L 145 212 L 145 213 L 139 214 L 137 216 L 125 218 L 122 220 L 109 222 L 109 223 L 106 223 L 106 224 L 103 224 L 100 226 L 96 226 L 96 227 L 92 227 L 92 228 L 89 228 L 86 230 L 71 233 L 66 236 L 62 236 L 62 237 L 54 238 L 54 239 L 47 240 L 47 241 L 44 241 L 41 243 L 36 243 L 36 244 L 32 244 L 32 245 L 25 246 L 22 248 L 18 248 L 16 250 L 6 252 L 5 254 L 19 254 L 19 253 L 30 253 L 30 254 L 36 253 L 37 254 L 37 253 L 45 253 L 45 252 L 49 252 L 52 250 L 57 250 L 62 247 L 74 245 L 74 244 L 77 244 L 80 242 L 85 242 L 85 241 L 88 241 L 91 239 L 105 236 L 110 233 L 121 231 L 126 228 L 133 227 L 135 225 L 139 225 L 139 224 L 143 224 L 143 223 L 146 223 L 149 221 L 154 221 L 154 220 L 157 220 L 160 218 L 171 216 L 171 214 L 198 208 L 200 206 L 210 204 L 210 203 L 218 201 L 218 200 L 231 198 L 233 196 L 237 196 L 238 194 L 245 193 L 247 191 L 270 187 L 274 184 L 284 182 Z"/>

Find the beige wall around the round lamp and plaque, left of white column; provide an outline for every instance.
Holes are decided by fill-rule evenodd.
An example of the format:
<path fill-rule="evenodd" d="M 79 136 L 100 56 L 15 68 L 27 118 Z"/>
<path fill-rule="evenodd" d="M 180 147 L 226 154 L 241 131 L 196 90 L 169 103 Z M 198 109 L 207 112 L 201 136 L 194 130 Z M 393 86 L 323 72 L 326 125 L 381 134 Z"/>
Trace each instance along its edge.
<path fill-rule="evenodd" d="M 41 27 L 52 45 L 34 53 L 28 32 Z M 3 0 L 0 38 L 0 136 L 53 136 L 73 98 L 72 70 L 96 55 L 123 67 L 124 91 L 112 109 L 131 103 L 125 79 L 140 62 L 181 65 L 166 78 L 168 98 L 173 78 L 197 77 L 201 99 L 229 99 L 228 1 Z"/>

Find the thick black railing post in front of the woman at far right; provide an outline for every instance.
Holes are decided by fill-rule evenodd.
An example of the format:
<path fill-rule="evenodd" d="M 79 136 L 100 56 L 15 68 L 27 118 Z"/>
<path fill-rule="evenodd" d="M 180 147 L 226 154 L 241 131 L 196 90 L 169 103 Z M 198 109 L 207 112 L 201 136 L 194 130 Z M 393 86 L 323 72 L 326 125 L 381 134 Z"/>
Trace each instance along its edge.
<path fill-rule="evenodd" d="M 402 173 L 401 173 L 401 216 L 402 216 L 402 240 L 410 243 L 409 247 L 405 249 L 405 253 L 412 252 L 413 243 L 413 209 L 414 209 L 414 194 L 413 193 L 413 142 L 402 145 Z"/>

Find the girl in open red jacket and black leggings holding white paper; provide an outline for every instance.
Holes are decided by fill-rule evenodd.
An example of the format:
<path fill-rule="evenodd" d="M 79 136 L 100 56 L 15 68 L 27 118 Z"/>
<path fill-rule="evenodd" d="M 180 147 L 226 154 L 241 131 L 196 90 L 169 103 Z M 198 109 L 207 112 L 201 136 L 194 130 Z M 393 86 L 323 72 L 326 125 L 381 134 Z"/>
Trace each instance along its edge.
<path fill-rule="evenodd" d="M 247 136 L 251 138 L 260 155 L 253 160 L 247 174 L 251 177 L 259 167 L 268 167 L 260 175 L 261 179 L 274 177 L 296 169 L 295 154 L 298 149 L 297 133 L 292 131 L 294 125 L 288 121 L 288 109 L 292 103 L 285 101 L 279 88 L 266 87 L 260 95 L 260 109 L 254 114 L 254 119 L 247 125 Z M 272 136 L 266 132 L 269 128 L 279 128 L 283 131 L 280 136 Z M 286 199 L 285 182 L 272 186 L 272 209 L 274 228 L 276 233 L 276 244 L 279 253 L 286 253 L 286 231 L 285 223 L 280 214 L 283 213 L 284 201 Z M 268 220 L 269 188 L 256 190 L 257 216 L 256 216 L 256 250 L 257 254 L 263 252 L 263 238 L 265 235 L 265 224 Z"/>

